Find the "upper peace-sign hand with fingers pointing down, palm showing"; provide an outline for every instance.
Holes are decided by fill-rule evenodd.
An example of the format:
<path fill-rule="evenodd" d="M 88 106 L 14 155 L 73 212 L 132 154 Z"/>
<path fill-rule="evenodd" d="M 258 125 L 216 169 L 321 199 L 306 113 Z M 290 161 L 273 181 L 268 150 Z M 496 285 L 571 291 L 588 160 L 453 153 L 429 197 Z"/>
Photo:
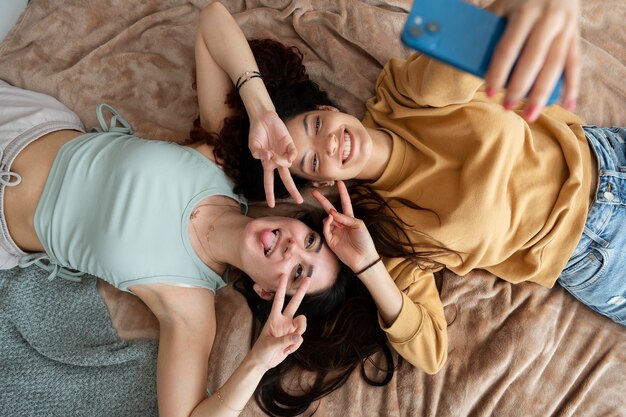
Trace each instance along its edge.
<path fill-rule="evenodd" d="M 291 178 L 289 167 L 298 151 L 285 123 L 275 111 L 266 111 L 260 117 L 250 120 L 248 147 L 252 156 L 263 164 L 263 186 L 267 205 L 274 207 L 274 170 L 278 169 L 280 179 L 291 197 L 300 204 L 304 201 Z"/>

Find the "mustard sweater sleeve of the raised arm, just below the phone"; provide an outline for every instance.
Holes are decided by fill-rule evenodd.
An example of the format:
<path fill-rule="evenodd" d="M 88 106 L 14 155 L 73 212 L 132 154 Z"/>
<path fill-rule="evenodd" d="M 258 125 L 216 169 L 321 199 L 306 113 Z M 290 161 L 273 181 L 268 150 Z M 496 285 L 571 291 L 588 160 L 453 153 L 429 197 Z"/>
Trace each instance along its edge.
<path fill-rule="evenodd" d="M 467 72 L 414 53 L 407 60 L 391 59 L 378 79 L 376 91 L 398 91 L 410 108 L 444 107 L 468 103 L 482 86 L 483 80 Z M 397 98 L 396 98 L 397 99 Z"/>

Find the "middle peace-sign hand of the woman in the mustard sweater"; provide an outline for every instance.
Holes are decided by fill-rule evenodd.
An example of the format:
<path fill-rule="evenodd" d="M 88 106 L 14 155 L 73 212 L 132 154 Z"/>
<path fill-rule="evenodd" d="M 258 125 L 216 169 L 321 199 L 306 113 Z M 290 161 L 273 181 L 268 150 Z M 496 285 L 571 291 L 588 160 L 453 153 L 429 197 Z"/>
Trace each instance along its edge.
<path fill-rule="evenodd" d="M 328 213 L 324 220 L 324 237 L 330 249 L 353 271 L 360 271 L 378 259 L 374 241 L 365 223 L 354 217 L 350 194 L 343 181 L 337 181 L 343 214 L 319 191 L 313 197 Z"/>

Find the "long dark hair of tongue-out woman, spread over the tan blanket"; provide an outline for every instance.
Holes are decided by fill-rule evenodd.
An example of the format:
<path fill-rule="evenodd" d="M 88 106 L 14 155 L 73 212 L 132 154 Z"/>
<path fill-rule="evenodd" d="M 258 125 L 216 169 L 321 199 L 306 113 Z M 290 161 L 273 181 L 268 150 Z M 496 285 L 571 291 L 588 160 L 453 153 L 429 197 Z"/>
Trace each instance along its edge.
<path fill-rule="evenodd" d="M 314 230 L 321 230 L 321 214 L 299 217 Z M 255 317 L 254 339 L 271 310 L 271 301 L 261 299 L 253 290 L 254 282 L 246 275 L 235 281 Z M 288 297 L 286 297 L 288 298 Z M 286 303 L 288 301 L 285 301 Z M 386 385 L 395 371 L 394 355 L 387 337 L 378 325 L 377 308 L 367 288 L 342 264 L 333 286 L 324 292 L 306 296 L 297 314 L 307 318 L 307 330 L 300 348 L 281 364 L 265 373 L 255 392 L 259 407 L 274 416 L 295 416 L 310 405 L 341 387 L 360 366 L 361 375 L 371 385 Z M 370 377 L 366 364 L 376 353 L 382 377 Z M 400 359 L 398 359 L 400 361 Z M 283 386 L 292 372 L 307 371 L 313 382 L 309 389 Z"/>

